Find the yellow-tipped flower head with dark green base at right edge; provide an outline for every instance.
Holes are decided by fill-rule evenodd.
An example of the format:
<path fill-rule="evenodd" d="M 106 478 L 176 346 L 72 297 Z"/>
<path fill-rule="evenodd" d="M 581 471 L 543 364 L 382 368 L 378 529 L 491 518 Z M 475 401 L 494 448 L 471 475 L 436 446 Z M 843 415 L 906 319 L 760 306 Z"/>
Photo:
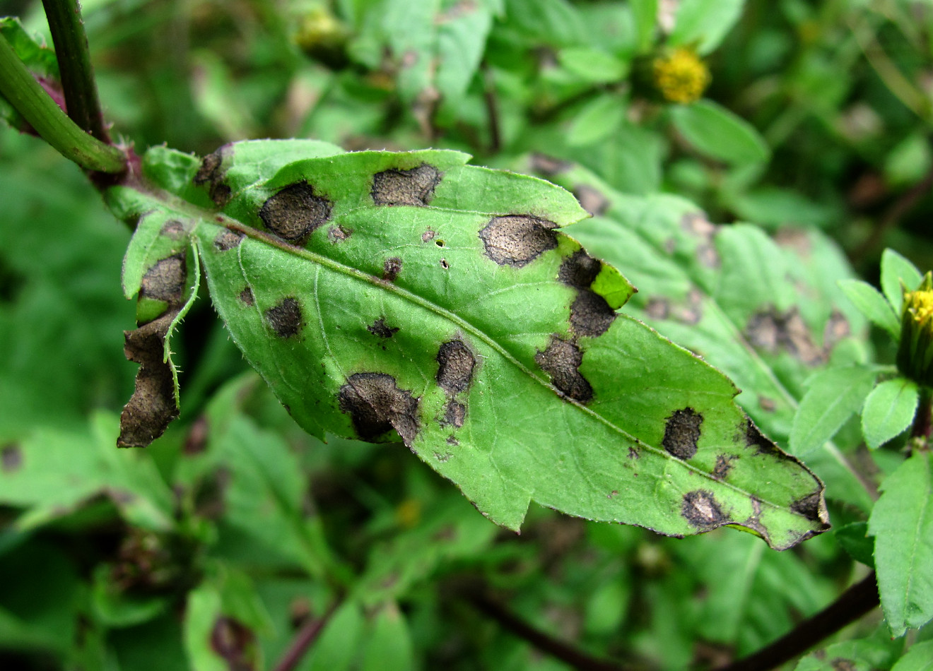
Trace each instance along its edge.
<path fill-rule="evenodd" d="M 926 387 L 933 387 L 933 276 L 913 291 L 904 288 L 900 311 L 898 369 Z"/>

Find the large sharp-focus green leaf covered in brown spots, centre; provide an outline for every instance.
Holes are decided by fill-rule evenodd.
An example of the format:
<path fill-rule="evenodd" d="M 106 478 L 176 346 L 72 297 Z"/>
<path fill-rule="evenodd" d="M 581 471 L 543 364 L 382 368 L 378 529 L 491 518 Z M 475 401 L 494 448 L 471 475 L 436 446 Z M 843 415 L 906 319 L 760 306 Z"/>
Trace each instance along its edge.
<path fill-rule="evenodd" d="M 513 529 L 532 500 L 781 549 L 827 527 L 822 485 L 731 382 L 615 311 L 634 290 L 554 230 L 585 215 L 563 189 L 448 151 L 310 158 L 250 183 L 238 147 L 204 162 L 240 169 L 212 173 L 222 213 L 161 209 L 186 216 L 233 339 L 307 431 L 400 437 Z"/>

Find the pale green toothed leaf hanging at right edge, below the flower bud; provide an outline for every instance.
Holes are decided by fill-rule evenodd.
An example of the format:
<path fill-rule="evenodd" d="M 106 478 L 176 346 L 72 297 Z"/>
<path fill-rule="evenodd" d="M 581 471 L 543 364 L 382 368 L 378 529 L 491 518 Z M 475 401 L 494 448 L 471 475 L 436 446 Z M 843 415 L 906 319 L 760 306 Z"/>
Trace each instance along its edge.
<path fill-rule="evenodd" d="M 933 617 L 933 489 L 930 455 L 914 453 L 882 483 L 869 519 L 884 619 L 902 636 Z"/>

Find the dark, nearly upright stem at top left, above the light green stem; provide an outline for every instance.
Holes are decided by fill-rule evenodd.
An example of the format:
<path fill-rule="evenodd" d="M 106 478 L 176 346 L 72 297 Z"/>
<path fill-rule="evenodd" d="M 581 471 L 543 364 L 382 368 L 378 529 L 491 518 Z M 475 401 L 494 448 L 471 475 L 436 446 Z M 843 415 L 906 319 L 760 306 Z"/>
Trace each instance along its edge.
<path fill-rule="evenodd" d="M 55 45 L 68 116 L 80 129 L 87 130 L 102 143 L 110 144 L 94 83 L 81 7 L 77 0 L 42 0 L 42 7 L 46 10 L 52 44 Z"/>

